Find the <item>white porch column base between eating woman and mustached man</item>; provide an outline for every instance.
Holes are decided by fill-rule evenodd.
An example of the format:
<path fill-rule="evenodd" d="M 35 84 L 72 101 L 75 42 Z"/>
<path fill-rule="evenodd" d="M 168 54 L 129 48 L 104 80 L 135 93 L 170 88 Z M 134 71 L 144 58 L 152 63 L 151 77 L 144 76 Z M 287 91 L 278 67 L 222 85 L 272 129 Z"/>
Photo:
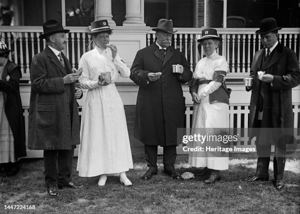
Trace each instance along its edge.
<path fill-rule="evenodd" d="M 145 26 L 146 24 L 143 21 L 142 17 L 142 8 L 144 0 L 126 0 L 126 15 L 125 21 L 123 22 L 124 26 Z"/>

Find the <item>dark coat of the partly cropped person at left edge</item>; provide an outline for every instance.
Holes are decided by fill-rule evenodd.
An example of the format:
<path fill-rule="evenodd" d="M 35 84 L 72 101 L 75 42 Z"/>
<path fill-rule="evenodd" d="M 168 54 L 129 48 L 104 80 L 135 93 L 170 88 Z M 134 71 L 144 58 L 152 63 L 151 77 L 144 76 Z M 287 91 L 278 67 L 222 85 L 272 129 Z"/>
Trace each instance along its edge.
<path fill-rule="evenodd" d="M 14 136 L 15 158 L 26 156 L 25 120 L 19 88 L 21 77 L 20 67 L 8 60 L 0 79 L 0 91 L 3 91 L 5 115 Z"/>

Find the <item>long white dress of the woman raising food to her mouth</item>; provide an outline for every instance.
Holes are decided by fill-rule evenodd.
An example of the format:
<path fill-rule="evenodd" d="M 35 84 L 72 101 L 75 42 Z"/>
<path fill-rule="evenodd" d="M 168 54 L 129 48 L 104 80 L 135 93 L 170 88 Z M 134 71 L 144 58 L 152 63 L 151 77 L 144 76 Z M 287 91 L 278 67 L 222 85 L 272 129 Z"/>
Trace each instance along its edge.
<path fill-rule="evenodd" d="M 79 62 L 80 86 L 88 89 L 82 106 L 77 170 L 81 177 L 113 174 L 133 168 L 123 101 L 115 82 L 130 70 L 110 48 L 95 47 Z M 101 72 L 111 73 L 111 83 L 98 85 Z"/>

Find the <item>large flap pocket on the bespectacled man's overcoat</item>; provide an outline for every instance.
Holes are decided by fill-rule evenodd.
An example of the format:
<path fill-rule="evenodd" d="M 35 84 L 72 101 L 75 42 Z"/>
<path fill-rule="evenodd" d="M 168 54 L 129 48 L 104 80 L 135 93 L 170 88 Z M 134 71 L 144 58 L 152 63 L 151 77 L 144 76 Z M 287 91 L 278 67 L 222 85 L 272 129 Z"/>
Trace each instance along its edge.
<path fill-rule="evenodd" d="M 56 123 L 56 105 L 37 104 L 35 122 L 40 128 L 54 127 Z"/>

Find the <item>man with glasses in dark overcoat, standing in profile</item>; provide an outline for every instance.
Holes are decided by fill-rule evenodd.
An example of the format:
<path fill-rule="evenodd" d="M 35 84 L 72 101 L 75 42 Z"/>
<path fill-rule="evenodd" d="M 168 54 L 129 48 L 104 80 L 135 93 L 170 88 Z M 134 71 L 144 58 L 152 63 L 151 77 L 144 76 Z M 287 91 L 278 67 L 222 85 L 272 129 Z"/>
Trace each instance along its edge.
<path fill-rule="evenodd" d="M 61 52 L 69 30 L 56 20 L 44 23 L 43 29 L 40 38 L 46 39 L 48 46 L 33 57 L 30 66 L 28 148 L 44 150 L 47 191 L 57 197 L 56 186 L 82 187 L 71 180 L 74 147 L 80 143 L 76 99 L 82 97 L 82 91 L 74 85 L 79 74 L 72 72 Z"/>

